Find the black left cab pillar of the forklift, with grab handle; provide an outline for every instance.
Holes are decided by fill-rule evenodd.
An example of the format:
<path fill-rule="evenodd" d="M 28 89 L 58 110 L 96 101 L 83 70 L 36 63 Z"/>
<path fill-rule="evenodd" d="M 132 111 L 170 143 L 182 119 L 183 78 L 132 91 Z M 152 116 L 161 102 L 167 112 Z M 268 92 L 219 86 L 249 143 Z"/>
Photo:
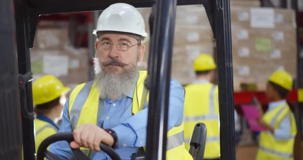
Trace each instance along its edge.
<path fill-rule="evenodd" d="M 30 71 L 30 51 L 29 51 L 29 33 L 28 33 L 28 10 L 24 4 L 25 1 L 14 0 L 15 3 L 15 25 L 16 41 L 18 55 L 19 74 L 25 74 Z M 21 103 L 21 108 L 33 112 L 32 102 L 32 85 L 29 82 L 26 85 L 27 104 Z M 34 122 L 22 114 L 22 133 L 23 133 L 23 155 L 24 159 L 35 159 L 35 139 L 34 139 Z"/>

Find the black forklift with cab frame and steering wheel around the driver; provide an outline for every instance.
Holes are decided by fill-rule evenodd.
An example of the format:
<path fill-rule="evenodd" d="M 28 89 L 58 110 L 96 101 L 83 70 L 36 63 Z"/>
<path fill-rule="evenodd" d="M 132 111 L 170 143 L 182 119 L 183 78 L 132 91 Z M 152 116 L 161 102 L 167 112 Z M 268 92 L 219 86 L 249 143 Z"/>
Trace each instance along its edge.
<path fill-rule="evenodd" d="M 169 79 L 171 78 L 172 49 L 177 5 L 203 5 L 209 19 L 218 64 L 220 150 L 222 160 L 235 159 L 234 98 L 231 18 L 229 0 L 14 0 L 1 1 L 1 59 L 0 64 L 0 159 L 59 159 L 46 150 L 56 141 L 72 141 L 71 133 L 48 137 L 35 154 L 34 113 L 32 103 L 32 73 L 30 48 L 33 48 L 37 21 L 41 14 L 100 11 L 114 3 L 127 3 L 136 8 L 153 7 L 150 25 L 148 76 L 149 109 L 145 159 L 165 159 Z M 13 16 L 15 21 L 13 21 Z M 15 30 L 14 30 L 15 28 Z M 14 39 L 15 37 L 15 39 Z M 15 45 L 17 53 L 15 52 Z M 202 127 L 200 127 L 202 126 Z M 206 129 L 197 124 L 191 139 L 190 153 L 203 159 Z M 204 139 L 203 139 L 204 138 Z M 199 146 L 200 144 L 200 146 Z M 112 157 L 120 159 L 110 147 L 100 144 Z M 88 159 L 80 150 L 73 150 L 79 159 Z M 202 153 L 202 154 L 201 154 Z M 23 157 L 22 157 L 23 156 Z"/>

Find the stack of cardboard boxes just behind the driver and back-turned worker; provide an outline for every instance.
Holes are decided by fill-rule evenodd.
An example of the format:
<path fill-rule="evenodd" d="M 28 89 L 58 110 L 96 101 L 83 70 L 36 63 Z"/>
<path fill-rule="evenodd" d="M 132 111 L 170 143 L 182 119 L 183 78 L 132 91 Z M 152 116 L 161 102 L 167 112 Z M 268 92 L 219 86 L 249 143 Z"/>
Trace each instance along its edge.
<path fill-rule="evenodd" d="M 139 9 L 145 21 L 145 28 L 149 33 L 148 17 L 150 8 Z M 148 45 L 143 66 L 147 67 Z M 174 33 L 172 77 L 181 84 L 190 84 L 195 79 L 192 69 L 194 59 L 201 53 L 214 54 L 214 36 L 205 13 L 201 5 L 178 6 L 176 13 L 176 26 Z M 142 68 L 144 69 L 144 67 Z"/>

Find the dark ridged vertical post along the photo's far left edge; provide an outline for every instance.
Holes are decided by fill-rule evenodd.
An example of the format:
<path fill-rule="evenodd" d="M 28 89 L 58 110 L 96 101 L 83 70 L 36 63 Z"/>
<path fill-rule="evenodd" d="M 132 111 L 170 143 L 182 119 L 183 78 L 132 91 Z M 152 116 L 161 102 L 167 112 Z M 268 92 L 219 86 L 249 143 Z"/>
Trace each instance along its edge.
<path fill-rule="evenodd" d="M 0 1 L 0 159 L 22 159 L 12 1 Z"/>

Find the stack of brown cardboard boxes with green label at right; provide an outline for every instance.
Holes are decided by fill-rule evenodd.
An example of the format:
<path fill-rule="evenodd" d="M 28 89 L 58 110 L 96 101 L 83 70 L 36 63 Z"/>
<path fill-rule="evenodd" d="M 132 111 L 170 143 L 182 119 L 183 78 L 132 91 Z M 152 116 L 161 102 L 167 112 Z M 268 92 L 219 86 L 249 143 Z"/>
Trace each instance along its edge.
<path fill-rule="evenodd" d="M 284 69 L 296 77 L 296 24 L 292 10 L 232 7 L 234 89 L 265 90 L 268 77 Z"/>

